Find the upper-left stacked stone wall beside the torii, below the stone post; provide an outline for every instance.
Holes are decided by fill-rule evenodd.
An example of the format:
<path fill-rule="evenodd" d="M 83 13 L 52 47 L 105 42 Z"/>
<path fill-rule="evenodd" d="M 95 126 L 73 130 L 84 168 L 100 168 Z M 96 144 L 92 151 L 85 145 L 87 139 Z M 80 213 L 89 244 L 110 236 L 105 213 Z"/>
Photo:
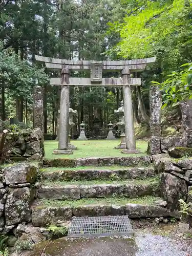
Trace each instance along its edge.
<path fill-rule="evenodd" d="M 10 159 L 14 161 L 39 160 L 45 155 L 44 137 L 39 128 L 10 133 L 7 141 L 13 144 Z"/>

